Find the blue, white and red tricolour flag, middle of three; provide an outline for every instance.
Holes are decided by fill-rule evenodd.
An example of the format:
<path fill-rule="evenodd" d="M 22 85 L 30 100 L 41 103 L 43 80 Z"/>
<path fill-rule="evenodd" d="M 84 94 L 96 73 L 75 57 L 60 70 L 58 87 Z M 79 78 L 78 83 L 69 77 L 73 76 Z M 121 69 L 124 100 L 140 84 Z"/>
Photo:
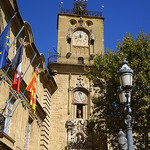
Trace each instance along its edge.
<path fill-rule="evenodd" d="M 14 80 L 12 84 L 12 88 L 19 93 L 20 89 L 20 80 L 21 80 L 21 70 L 22 70 L 22 55 L 23 55 L 23 42 L 20 44 L 15 57 L 13 58 L 10 67 L 15 70 Z"/>

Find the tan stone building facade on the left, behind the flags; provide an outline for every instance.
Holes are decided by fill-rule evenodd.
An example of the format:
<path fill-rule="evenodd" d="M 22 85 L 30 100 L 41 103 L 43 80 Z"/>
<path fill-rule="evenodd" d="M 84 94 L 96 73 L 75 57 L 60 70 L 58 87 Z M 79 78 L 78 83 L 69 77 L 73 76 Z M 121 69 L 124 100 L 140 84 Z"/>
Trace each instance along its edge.
<path fill-rule="evenodd" d="M 0 149 L 1 150 L 48 150 L 49 148 L 49 130 L 51 114 L 51 96 L 57 89 L 57 84 L 52 76 L 46 70 L 46 62 L 43 54 L 37 50 L 32 30 L 28 22 L 24 22 L 16 0 L 0 1 L 0 33 L 4 30 L 11 17 L 17 12 L 17 15 L 11 22 L 10 43 L 14 40 L 19 30 L 24 26 L 22 32 L 9 49 L 9 61 L 14 57 L 16 45 L 20 45 L 24 36 L 26 40 L 23 43 L 22 75 L 26 72 L 32 58 L 35 56 L 32 64 L 27 70 L 21 85 L 20 92 L 14 92 L 12 82 L 14 70 L 9 69 L 4 81 L 0 85 Z M 25 92 L 23 98 L 20 97 L 29 83 L 36 66 L 40 63 L 37 75 L 37 95 L 36 95 L 36 113 L 32 115 L 29 106 L 29 92 Z M 7 68 L 6 65 L 0 70 L 0 82 Z M 15 94 L 14 94 L 15 93 Z M 2 114 L 8 99 L 12 99 Z M 17 106 L 13 116 L 11 114 Z M 7 125 L 7 121 L 10 122 Z M 3 132 L 4 126 L 7 128 Z"/>

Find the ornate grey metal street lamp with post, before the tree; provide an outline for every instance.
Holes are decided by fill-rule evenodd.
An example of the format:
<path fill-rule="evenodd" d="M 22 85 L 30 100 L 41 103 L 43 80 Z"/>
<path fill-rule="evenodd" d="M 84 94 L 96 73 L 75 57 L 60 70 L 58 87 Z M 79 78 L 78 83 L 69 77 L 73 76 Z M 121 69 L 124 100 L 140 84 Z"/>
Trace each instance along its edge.
<path fill-rule="evenodd" d="M 125 112 L 126 119 L 125 124 L 127 126 L 127 143 L 128 150 L 133 150 L 133 136 L 132 136 L 132 125 L 133 120 L 131 118 L 131 88 L 132 88 L 132 76 L 133 70 L 127 65 L 126 59 L 122 62 L 123 66 L 119 70 L 119 78 L 120 78 L 120 90 L 119 90 L 119 98 L 120 102 L 125 103 Z"/>

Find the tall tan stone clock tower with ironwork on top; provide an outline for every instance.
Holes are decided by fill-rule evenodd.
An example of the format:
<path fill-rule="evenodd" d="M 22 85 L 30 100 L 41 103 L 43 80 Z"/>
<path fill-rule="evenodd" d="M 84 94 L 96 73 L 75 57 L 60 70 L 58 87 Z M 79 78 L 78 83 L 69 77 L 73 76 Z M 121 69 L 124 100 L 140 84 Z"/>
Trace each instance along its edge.
<path fill-rule="evenodd" d="M 58 14 L 57 60 L 48 64 L 58 85 L 51 102 L 49 150 L 96 149 L 89 126 L 96 92 L 85 70 L 93 67 L 96 54 L 104 54 L 103 20 L 100 12 L 87 11 L 82 0 Z"/>

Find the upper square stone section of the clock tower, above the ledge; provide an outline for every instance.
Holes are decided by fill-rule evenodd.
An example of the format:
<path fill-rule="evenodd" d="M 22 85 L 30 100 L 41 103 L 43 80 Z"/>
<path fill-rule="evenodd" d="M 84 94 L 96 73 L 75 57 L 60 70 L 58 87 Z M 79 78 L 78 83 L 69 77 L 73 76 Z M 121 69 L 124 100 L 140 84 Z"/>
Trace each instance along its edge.
<path fill-rule="evenodd" d="M 72 22 L 75 22 L 74 24 Z M 91 24 L 89 25 L 88 22 Z M 84 56 L 84 64 L 92 65 L 95 54 L 104 54 L 103 18 L 58 14 L 58 63 L 78 64 L 78 57 Z M 88 44 L 76 43 L 76 31 L 88 36 Z M 82 34 L 82 33 L 81 33 Z M 69 53 L 71 56 L 69 57 Z"/>

